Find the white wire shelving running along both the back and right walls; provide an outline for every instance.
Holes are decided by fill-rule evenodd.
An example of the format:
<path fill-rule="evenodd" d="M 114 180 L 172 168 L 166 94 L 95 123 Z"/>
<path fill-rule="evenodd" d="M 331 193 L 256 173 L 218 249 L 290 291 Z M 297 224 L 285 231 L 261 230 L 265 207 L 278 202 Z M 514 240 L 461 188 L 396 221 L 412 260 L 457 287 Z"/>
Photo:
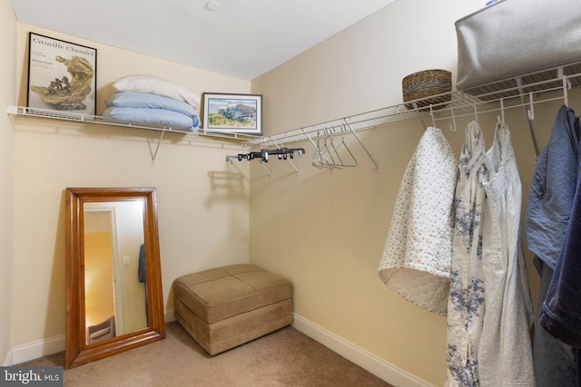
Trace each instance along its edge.
<path fill-rule="evenodd" d="M 536 73 L 527 73 L 518 77 L 491 82 L 463 91 L 453 91 L 430 96 L 416 101 L 402 102 L 374 111 L 366 111 L 331 121 L 324 121 L 314 125 L 283 131 L 271 135 L 256 135 L 248 133 L 233 133 L 222 131 L 191 131 L 187 128 L 173 128 L 166 125 L 144 124 L 141 122 L 116 121 L 102 116 L 78 114 L 68 111 L 51 111 L 22 106 L 8 105 L 9 114 L 25 117 L 53 119 L 60 121 L 77 121 L 113 125 L 125 128 L 137 128 L 150 131 L 182 133 L 188 139 L 207 138 L 222 140 L 238 140 L 241 145 L 251 148 L 254 145 L 261 147 L 280 148 L 284 144 L 310 140 L 338 132 L 353 133 L 399 121 L 417 120 L 424 123 L 424 118 L 434 121 L 454 119 L 462 111 L 474 110 L 480 106 L 500 102 L 502 109 L 526 106 L 527 104 L 553 101 L 556 98 L 547 97 L 549 92 L 562 92 L 557 98 L 565 98 L 569 89 L 581 85 L 581 63 L 572 63 L 545 69 Z M 504 105 L 504 102 L 510 102 Z M 497 103 L 498 105 L 498 103 Z M 497 111 L 500 108 L 491 108 L 487 111 Z M 486 111 L 483 111 L 486 112 Z M 468 114 L 468 112 L 465 112 Z M 424 124 L 424 126 L 426 126 Z"/>

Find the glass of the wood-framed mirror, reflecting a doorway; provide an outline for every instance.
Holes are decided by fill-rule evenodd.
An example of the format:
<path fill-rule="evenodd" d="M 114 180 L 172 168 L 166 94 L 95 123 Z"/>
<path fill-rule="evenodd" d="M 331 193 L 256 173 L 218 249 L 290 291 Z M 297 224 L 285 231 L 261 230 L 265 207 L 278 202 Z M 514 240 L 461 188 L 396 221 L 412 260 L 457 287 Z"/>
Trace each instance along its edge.
<path fill-rule="evenodd" d="M 147 324 L 143 200 L 84 205 L 86 343 Z"/>

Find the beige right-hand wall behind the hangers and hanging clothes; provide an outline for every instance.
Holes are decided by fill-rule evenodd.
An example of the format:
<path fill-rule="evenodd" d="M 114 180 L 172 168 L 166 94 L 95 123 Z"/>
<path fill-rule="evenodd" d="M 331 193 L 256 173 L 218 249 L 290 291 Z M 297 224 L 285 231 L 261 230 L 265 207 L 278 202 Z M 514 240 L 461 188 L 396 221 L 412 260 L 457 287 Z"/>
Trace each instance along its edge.
<path fill-rule="evenodd" d="M 454 22 L 484 3 L 398 1 L 253 80 L 252 92 L 266 96 L 267 131 L 398 104 L 401 79 L 409 73 L 429 68 L 456 73 Z M 541 146 L 558 105 L 536 107 Z M 478 116 L 488 146 L 496 114 Z M 458 119 L 456 132 L 448 130 L 449 121 L 439 123 L 457 155 L 472 118 Z M 526 198 L 534 150 L 522 109 L 507 111 L 507 123 Z M 298 176 L 285 162 L 269 162 L 271 178 L 253 164 L 251 262 L 291 279 L 294 312 L 300 318 L 429 385 L 442 385 L 446 318 L 405 301 L 377 273 L 399 182 L 422 133 L 419 121 L 362 132 L 363 143 L 379 162 L 378 172 L 349 136 L 348 146 L 358 160 L 354 169 L 330 173 L 311 167 L 308 141 L 291 144 L 307 150 L 306 157 L 294 160 Z M 531 258 L 527 256 L 537 300 Z"/>

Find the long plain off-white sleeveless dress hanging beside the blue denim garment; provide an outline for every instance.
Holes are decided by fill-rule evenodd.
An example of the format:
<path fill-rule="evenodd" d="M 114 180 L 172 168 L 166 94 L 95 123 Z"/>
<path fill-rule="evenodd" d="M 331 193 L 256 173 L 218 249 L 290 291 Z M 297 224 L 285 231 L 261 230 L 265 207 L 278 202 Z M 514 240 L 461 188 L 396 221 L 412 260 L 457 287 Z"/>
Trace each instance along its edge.
<path fill-rule="evenodd" d="M 534 387 L 533 305 L 520 239 L 522 187 L 507 124 L 498 122 L 485 155 L 485 314 L 478 347 L 481 387 Z"/>

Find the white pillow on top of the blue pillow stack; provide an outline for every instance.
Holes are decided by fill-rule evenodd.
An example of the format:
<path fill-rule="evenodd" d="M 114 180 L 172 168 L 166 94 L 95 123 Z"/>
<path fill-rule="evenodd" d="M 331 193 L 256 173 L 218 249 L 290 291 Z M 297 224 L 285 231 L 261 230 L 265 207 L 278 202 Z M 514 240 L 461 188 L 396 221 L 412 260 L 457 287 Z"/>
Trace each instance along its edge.
<path fill-rule="evenodd" d="M 114 92 L 149 92 L 162 97 L 189 103 L 193 109 L 200 107 L 200 97 L 166 79 L 153 75 L 128 75 L 113 83 Z"/>

